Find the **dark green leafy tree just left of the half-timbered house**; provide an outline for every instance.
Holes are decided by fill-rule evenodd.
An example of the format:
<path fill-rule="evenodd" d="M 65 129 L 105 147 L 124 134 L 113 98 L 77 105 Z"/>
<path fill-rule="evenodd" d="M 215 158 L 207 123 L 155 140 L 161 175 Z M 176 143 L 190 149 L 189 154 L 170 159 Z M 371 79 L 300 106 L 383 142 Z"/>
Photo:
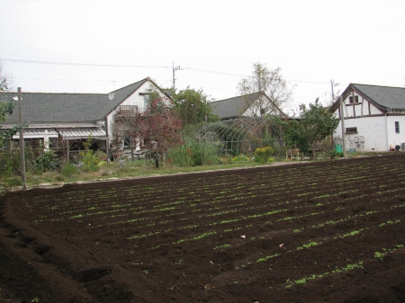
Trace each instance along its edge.
<path fill-rule="evenodd" d="M 285 122 L 285 141 L 287 145 L 308 152 L 315 143 L 333 135 L 339 121 L 329 108 L 320 104 L 319 99 L 311 103 L 309 108 L 305 104 L 300 105 L 300 111 L 302 115 L 299 120 Z"/>

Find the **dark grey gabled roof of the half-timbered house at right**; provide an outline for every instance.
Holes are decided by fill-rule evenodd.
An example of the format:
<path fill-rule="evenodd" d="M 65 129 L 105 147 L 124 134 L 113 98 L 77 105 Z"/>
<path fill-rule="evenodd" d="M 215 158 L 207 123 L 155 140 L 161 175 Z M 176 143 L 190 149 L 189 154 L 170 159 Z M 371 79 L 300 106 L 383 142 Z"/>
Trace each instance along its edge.
<path fill-rule="evenodd" d="M 368 101 L 372 102 L 376 107 L 387 110 L 405 110 L 405 88 L 379 85 L 358 85 L 350 84 L 343 92 L 343 98 L 352 89 L 360 95 L 363 95 Z M 339 102 L 336 102 L 333 109 L 336 109 Z"/>

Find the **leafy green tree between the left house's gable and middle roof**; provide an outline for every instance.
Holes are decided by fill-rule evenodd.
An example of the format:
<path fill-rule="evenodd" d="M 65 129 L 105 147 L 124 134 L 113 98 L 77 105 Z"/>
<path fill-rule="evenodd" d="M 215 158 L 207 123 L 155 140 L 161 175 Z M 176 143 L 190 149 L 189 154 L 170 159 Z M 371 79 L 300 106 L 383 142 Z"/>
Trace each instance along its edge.
<path fill-rule="evenodd" d="M 208 122 L 220 120 L 212 113 L 210 97 L 201 90 L 187 87 L 173 95 L 175 109 L 184 125 L 197 124 L 205 119 Z M 206 118 L 205 118 L 206 117 Z"/>

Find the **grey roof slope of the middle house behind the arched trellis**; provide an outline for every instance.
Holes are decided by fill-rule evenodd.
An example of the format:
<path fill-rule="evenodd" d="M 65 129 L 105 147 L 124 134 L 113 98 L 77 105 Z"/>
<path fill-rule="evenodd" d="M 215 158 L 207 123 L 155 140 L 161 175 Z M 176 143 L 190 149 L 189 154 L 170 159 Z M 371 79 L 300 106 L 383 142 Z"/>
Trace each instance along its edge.
<path fill-rule="evenodd" d="M 245 94 L 230 99 L 211 102 L 212 113 L 220 119 L 241 117 L 245 111 L 257 100 L 261 93 Z"/>

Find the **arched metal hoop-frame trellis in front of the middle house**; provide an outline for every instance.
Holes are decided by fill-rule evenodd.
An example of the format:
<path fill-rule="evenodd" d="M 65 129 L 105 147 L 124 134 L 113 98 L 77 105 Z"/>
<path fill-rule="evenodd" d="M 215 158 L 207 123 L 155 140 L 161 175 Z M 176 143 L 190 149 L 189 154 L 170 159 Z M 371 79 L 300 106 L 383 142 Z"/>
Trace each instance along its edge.
<path fill-rule="evenodd" d="M 240 155 L 254 152 L 257 147 L 274 147 L 278 156 L 284 154 L 283 130 L 274 116 L 245 117 L 203 123 L 190 136 L 199 142 L 215 143 L 225 154 Z"/>

